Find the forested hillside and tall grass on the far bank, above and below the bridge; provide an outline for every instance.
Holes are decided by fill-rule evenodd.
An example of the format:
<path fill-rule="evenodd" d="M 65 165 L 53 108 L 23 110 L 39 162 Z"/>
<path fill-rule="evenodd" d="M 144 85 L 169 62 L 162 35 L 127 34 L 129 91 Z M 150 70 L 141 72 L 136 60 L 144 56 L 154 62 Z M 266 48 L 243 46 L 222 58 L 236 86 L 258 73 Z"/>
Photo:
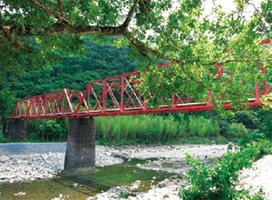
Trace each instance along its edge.
<path fill-rule="evenodd" d="M 100 46 L 89 38 L 84 40 L 87 53 L 83 58 L 62 55 L 63 62 L 53 65 L 51 70 L 24 72 L 24 77 L 16 79 L 6 76 L 6 81 L 0 84 L 4 133 L 16 99 L 63 88 L 84 90 L 89 81 L 133 71 L 139 64 L 130 60 L 126 47 Z M 68 119 L 29 120 L 27 141 L 65 141 L 67 129 Z M 210 144 L 212 140 L 223 144 L 255 140 L 260 133 L 272 137 L 271 111 L 242 110 L 228 119 L 209 112 L 96 118 L 96 139 L 102 144 Z M 6 141 L 5 136 L 0 137 Z"/>

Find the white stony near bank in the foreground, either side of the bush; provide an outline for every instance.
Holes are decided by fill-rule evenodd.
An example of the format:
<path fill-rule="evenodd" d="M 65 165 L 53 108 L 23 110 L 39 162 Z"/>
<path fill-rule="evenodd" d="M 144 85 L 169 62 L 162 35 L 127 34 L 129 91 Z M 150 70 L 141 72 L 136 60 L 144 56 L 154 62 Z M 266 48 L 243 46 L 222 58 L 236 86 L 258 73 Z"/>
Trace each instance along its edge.
<path fill-rule="evenodd" d="M 237 190 L 243 186 L 245 189 L 252 189 L 251 193 L 256 194 L 260 188 L 265 192 L 266 199 L 272 199 L 272 155 L 262 157 L 253 164 L 252 168 L 244 168 L 240 171 L 239 182 L 236 187 Z M 103 199 L 118 199 L 122 191 L 126 191 L 127 194 L 133 193 L 133 188 L 138 186 L 139 182 L 131 184 L 127 187 L 114 187 L 109 191 L 102 192 L 95 196 L 90 196 L 88 200 L 103 200 Z M 144 193 L 134 193 L 133 195 L 127 195 L 129 200 L 150 200 L 150 199 L 180 199 L 180 186 L 186 185 L 186 181 L 179 179 L 176 176 L 171 176 L 156 186 L 152 186 L 151 189 Z"/>

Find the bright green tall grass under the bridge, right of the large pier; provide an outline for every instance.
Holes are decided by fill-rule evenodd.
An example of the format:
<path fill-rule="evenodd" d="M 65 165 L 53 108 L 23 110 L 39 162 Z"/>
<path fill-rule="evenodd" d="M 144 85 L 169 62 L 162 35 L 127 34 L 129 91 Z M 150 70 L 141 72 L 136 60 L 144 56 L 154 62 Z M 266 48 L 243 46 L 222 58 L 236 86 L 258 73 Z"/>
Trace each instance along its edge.
<path fill-rule="evenodd" d="M 184 114 L 180 114 L 180 119 L 152 115 L 100 117 L 95 119 L 96 139 L 105 142 L 169 142 L 188 136 L 209 138 L 219 135 L 219 125 L 213 119 L 189 116 L 187 121 Z"/>

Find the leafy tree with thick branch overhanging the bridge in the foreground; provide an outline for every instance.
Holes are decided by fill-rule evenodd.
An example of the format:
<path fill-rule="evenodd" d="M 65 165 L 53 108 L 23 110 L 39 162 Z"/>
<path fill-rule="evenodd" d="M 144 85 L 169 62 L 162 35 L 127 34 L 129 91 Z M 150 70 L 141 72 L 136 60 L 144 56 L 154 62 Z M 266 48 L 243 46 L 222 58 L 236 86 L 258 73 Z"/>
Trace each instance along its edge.
<path fill-rule="evenodd" d="M 2 0 L 0 4 L 1 74 L 41 69 L 56 62 L 60 52 L 82 54 L 82 34 L 99 43 L 112 43 L 105 37 L 111 35 L 119 37 L 115 45 L 129 45 L 130 55 L 151 69 L 143 71 L 141 83 L 151 105 L 180 91 L 203 100 L 211 90 L 214 105 L 228 96 L 231 105 L 240 108 L 251 97 L 248 82 L 263 79 L 256 66 L 271 67 L 267 46 L 259 45 L 270 32 L 269 0 L 259 8 L 237 0 L 230 13 L 215 5 L 209 16 L 200 0 Z M 249 16 L 248 6 L 255 9 Z M 170 70 L 156 70 L 158 59 L 173 62 Z M 208 71 L 213 74 L 217 64 L 228 71 L 221 81 L 229 76 L 233 81 L 219 84 L 217 77 L 211 78 Z M 248 81 L 241 85 L 244 79 Z M 151 98 L 147 91 L 153 89 Z"/>

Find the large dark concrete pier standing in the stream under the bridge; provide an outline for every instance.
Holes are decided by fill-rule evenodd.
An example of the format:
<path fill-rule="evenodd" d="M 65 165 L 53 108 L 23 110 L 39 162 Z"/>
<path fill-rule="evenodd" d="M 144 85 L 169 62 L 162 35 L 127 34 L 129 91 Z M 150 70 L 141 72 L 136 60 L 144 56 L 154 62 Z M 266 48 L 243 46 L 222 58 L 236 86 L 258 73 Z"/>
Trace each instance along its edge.
<path fill-rule="evenodd" d="M 65 175 L 89 173 L 95 170 L 94 119 L 71 118 L 64 161 Z"/>

